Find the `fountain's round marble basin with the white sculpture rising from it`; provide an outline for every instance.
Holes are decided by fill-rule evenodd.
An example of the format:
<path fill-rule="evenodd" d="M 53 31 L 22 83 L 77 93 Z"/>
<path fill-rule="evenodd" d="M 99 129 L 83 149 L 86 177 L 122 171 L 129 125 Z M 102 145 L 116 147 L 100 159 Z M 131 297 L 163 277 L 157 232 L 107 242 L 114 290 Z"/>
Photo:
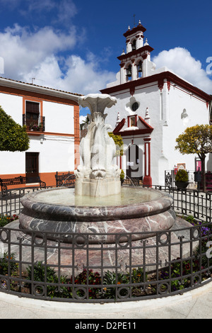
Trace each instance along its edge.
<path fill-rule="evenodd" d="M 90 108 L 88 133 L 81 140 L 81 164 L 75 171 L 75 188 L 54 188 L 23 197 L 20 228 L 64 233 L 64 242 L 76 235 L 89 233 L 89 244 L 115 242 L 115 235 L 138 232 L 133 240 L 152 237 L 158 230 L 169 230 L 175 222 L 172 197 L 152 188 L 121 187 L 120 169 L 113 164 L 116 147 L 108 135 L 105 108 L 117 103 L 105 94 L 80 97 L 78 103 Z M 150 232 L 143 235 L 142 232 Z M 55 232 L 55 234 L 54 234 Z M 105 233 L 104 236 L 100 235 Z M 113 233 L 113 235 L 111 235 Z M 78 238 L 80 239 L 80 238 Z M 80 242 L 80 240 L 78 240 Z M 83 242 L 83 239 L 81 239 Z"/>

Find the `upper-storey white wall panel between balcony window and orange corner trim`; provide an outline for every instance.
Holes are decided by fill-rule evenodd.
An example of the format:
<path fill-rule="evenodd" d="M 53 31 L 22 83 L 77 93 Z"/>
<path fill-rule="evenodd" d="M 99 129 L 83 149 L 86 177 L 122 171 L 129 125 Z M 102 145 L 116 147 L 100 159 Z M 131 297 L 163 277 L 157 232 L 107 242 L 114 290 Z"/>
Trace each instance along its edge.
<path fill-rule="evenodd" d="M 46 132 L 74 133 L 73 106 L 44 101 L 43 115 Z"/>

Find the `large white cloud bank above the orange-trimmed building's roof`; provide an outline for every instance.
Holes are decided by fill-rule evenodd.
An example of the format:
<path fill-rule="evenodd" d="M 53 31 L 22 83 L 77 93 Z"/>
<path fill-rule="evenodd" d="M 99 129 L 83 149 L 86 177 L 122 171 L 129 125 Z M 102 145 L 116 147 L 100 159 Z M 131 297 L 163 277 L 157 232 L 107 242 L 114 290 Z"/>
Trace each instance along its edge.
<path fill-rule="evenodd" d="M 67 33 L 52 27 L 31 31 L 15 24 L 0 33 L 0 57 L 4 76 L 79 94 L 96 93 L 114 81 L 115 74 L 100 69 L 100 59 L 74 54 L 78 43 L 75 28 Z M 69 52 L 70 55 L 62 55 Z"/>

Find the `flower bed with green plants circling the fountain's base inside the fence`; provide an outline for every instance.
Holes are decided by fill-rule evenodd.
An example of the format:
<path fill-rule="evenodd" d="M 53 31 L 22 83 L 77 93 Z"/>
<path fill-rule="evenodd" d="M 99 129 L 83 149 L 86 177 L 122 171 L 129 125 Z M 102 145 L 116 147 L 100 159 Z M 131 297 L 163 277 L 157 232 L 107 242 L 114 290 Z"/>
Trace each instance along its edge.
<path fill-rule="evenodd" d="M 141 299 L 143 296 L 179 293 L 180 290 L 194 288 L 212 276 L 212 258 L 206 256 L 212 227 L 206 227 L 192 217 L 185 219 L 198 228 L 201 225 L 199 247 L 194 256 L 184 260 L 174 259 L 158 273 L 146 273 L 141 266 L 125 273 L 83 269 L 76 276 L 58 276 L 52 267 L 38 261 L 20 274 L 16 254 L 9 257 L 6 252 L 0 259 L 1 289 L 36 295 L 38 298 L 45 296 L 45 299 L 117 300 L 128 297 Z"/>

